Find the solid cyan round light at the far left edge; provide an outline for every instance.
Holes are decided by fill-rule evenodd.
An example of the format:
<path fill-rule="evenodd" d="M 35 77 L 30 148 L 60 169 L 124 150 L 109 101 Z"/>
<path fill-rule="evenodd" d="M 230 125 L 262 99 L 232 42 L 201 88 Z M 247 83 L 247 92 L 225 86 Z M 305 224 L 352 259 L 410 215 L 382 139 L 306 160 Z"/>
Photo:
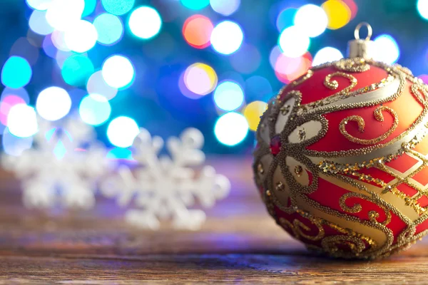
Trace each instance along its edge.
<path fill-rule="evenodd" d="M 11 56 L 1 69 L 1 83 L 9 88 L 21 88 L 30 82 L 32 74 L 25 58 Z"/>

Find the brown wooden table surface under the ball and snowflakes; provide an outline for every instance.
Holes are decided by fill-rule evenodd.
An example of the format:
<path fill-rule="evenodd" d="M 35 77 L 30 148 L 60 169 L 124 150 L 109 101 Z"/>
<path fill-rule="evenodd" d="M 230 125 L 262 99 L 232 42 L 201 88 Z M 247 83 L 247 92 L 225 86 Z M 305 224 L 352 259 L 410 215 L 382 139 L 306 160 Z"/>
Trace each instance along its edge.
<path fill-rule="evenodd" d="M 199 232 L 133 229 L 102 197 L 87 212 L 24 209 L 0 172 L 0 284 L 428 284 L 428 239 L 380 261 L 313 256 L 268 217 L 250 159 L 212 162 L 233 189 Z"/>

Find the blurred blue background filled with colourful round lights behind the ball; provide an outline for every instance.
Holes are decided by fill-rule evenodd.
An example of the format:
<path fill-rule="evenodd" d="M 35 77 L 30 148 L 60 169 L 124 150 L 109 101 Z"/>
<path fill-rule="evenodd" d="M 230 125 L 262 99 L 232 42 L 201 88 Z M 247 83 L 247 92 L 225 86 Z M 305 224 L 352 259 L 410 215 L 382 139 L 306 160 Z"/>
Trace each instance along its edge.
<path fill-rule="evenodd" d="M 346 56 L 360 21 L 375 59 L 428 81 L 427 0 L 2 0 L 2 147 L 29 148 L 36 114 L 78 114 L 117 158 L 140 127 L 249 154 L 267 100 Z"/>

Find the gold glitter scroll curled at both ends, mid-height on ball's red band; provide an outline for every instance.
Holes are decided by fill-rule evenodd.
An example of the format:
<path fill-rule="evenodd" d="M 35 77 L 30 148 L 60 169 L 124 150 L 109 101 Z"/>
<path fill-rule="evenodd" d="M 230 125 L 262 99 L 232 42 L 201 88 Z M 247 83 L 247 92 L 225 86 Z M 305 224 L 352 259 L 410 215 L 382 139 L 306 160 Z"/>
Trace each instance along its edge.
<path fill-rule="evenodd" d="M 384 121 L 384 116 L 382 115 L 382 111 L 386 111 L 389 114 L 391 114 L 394 122 L 392 123 L 391 128 L 389 128 L 389 130 L 387 130 L 387 132 L 383 133 L 382 135 L 379 135 L 379 137 L 365 140 L 362 138 L 356 138 L 347 132 L 346 130 L 347 123 L 349 123 L 350 121 L 355 121 L 358 124 L 358 130 L 360 131 L 360 133 L 364 133 L 365 120 L 359 115 L 352 115 L 350 117 L 343 119 L 339 124 L 340 133 L 342 133 L 342 135 L 344 135 L 345 138 L 347 138 L 347 140 L 350 140 L 351 142 L 359 143 L 360 145 L 374 145 L 377 142 L 382 142 L 382 140 L 385 140 L 386 138 L 388 138 L 389 135 L 391 135 L 394 132 L 394 130 L 397 129 L 397 126 L 398 126 L 398 115 L 392 108 L 389 108 L 388 106 L 379 106 L 376 109 L 374 109 L 374 118 L 377 121 L 379 122 Z"/>

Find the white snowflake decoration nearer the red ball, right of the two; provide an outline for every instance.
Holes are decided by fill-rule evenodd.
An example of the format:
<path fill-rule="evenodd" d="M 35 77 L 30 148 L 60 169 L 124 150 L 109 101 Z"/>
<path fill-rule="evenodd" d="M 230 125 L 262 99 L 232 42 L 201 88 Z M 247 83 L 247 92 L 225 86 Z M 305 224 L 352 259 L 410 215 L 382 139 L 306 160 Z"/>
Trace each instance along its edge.
<path fill-rule="evenodd" d="M 216 199 L 224 198 L 230 190 L 228 178 L 216 174 L 213 167 L 202 165 L 202 145 L 202 133 L 189 128 L 180 138 L 168 139 L 170 157 L 158 157 L 162 138 L 151 138 L 147 130 L 141 129 L 133 142 L 133 158 L 138 162 L 135 175 L 121 166 L 118 175 L 101 189 L 108 196 L 117 195 L 122 207 L 135 197 L 134 204 L 141 209 L 128 209 L 126 221 L 137 227 L 159 229 L 160 220 L 170 218 L 176 229 L 197 230 L 205 222 L 205 212 L 189 209 L 195 198 L 201 206 L 212 207 Z M 202 169 L 198 172 L 195 167 Z"/>

